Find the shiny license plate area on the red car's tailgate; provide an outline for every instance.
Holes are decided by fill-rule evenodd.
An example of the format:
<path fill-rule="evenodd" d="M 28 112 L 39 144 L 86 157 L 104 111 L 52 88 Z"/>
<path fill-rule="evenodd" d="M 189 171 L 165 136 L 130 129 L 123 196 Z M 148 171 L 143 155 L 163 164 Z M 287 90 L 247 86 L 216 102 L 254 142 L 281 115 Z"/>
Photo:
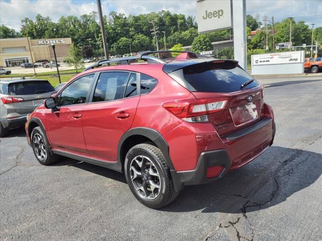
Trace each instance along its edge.
<path fill-rule="evenodd" d="M 258 111 L 255 102 L 231 108 L 230 113 L 235 126 L 245 124 L 258 118 Z"/>

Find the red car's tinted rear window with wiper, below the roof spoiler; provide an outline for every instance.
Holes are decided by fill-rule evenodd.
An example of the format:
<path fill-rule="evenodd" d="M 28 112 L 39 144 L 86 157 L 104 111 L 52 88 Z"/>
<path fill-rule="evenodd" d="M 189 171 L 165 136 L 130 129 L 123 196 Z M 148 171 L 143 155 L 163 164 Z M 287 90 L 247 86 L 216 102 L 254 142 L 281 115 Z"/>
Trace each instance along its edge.
<path fill-rule="evenodd" d="M 180 70 L 179 70 L 180 71 Z M 191 91 L 229 93 L 240 90 L 240 85 L 253 79 L 245 70 L 234 63 L 202 63 L 183 68 L 185 81 Z M 193 88 L 191 88 L 191 86 Z M 243 89 L 258 86 L 254 80 Z"/>

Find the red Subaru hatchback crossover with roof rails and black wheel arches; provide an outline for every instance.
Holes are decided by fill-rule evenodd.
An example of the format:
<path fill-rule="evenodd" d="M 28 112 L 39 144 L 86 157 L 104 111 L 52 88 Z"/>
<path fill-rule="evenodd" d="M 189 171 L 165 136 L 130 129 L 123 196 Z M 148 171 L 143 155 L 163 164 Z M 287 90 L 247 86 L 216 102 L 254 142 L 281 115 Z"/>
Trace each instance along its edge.
<path fill-rule="evenodd" d="M 37 160 L 61 155 L 123 172 L 141 203 L 160 208 L 184 185 L 220 178 L 272 145 L 263 86 L 236 61 L 150 54 L 99 61 L 36 108 L 26 132 Z"/>

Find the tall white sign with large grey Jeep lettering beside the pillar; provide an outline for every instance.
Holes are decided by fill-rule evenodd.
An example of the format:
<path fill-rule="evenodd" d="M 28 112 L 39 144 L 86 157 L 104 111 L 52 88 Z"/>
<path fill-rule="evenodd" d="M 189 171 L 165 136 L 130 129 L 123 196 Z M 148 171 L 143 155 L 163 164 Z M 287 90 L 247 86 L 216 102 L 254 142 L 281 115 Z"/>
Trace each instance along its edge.
<path fill-rule="evenodd" d="M 200 0 L 197 2 L 199 33 L 231 28 L 231 19 L 231 1 Z"/>

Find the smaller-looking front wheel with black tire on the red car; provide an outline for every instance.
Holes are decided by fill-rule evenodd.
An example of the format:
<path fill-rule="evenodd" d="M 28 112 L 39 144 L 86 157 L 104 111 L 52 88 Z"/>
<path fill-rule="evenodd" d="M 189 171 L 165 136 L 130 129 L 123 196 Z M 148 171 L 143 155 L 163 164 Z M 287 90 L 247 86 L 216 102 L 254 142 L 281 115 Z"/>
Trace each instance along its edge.
<path fill-rule="evenodd" d="M 35 139 L 37 139 L 38 137 L 40 137 L 42 140 L 41 142 L 39 142 L 40 144 L 37 144 L 35 141 Z M 48 141 L 40 127 L 35 127 L 31 132 L 31 146 L 32 150 L 34 151 L 35 157 L 40 164 L 50 165 L 58 160 L 57 155 L 50 153 Z"/>

